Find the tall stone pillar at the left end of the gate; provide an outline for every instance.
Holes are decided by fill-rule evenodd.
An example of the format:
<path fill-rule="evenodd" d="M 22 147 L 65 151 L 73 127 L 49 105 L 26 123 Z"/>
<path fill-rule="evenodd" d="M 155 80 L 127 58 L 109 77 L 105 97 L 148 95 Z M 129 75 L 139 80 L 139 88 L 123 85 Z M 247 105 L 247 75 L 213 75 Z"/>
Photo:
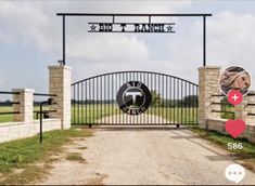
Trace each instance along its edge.
<path fill-rule="evenodd" d="M 51 112 L 51 118 L 62 120 L 62 129 L 71 128 L 71 74 L 67 66 L 49 66 L 49 93 L 56 94 L 52 97 L 56 105 L 50 106 L 56 112 Z"/>

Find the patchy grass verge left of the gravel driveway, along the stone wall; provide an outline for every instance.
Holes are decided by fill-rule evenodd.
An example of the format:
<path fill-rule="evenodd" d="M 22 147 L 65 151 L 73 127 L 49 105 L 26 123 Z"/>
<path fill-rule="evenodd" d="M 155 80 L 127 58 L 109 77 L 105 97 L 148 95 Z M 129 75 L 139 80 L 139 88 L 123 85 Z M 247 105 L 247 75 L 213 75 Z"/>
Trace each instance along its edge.
<path fill-rule="evenodd" d="M 38 181 L 50 169 L 51 157 L 62 151 L 62 146 L 73 137 L 88 137 L 89 130 L 56 130 L 39 136 L 0 144 L 0 185 L 28 184 Z"/>

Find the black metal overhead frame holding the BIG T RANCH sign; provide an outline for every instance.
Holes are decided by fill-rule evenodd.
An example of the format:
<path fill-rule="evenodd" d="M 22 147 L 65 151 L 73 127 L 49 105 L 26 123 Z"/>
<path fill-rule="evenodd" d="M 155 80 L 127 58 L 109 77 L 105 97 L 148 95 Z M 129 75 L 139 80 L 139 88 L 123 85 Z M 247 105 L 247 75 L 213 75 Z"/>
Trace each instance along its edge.
<path fill-rule="evenodd" d="M 69 17 L 69 16 L 101 16 L 101 17 L 112 17 L 112 23 L 110 23 L 111 25 L 112 24 L 119 24 L 123 28 L 123 24 L 127 24 L 127 23 L 115 23 L 115 18 L 116 17 L 148 17 L 148 24 L 151 24 L 151 18 L 152 17 L 169 17 L 169 16 L 189 16 L 189 17 L 193 17 L 193 16 L 199 16 L 199 17 L 203 17 L 203 66 L 206 66 L 206 17 L 207 16 L 212 16 L 212 14 L 114 14 L 114 13 L 111 13 L 111 14 L 105 14 L 105 13 L 56 13 L 58 16 L 62 16 L 63 18 L 63 58 L 62 58 L 62 64 L 65 65 L 66 64 L 66 51 L 65 51 L 65 18 L 66 17 Z M 94 26 L 94 23 L 89 23 L 91 24 L 92 26 Z M 95 24 L 100 24 L 100 23 L 95 23 Z M 106 23 L 107 24 L 107 23 Z M 167 24 L 169 27 L 168 27 L 168 31 L 165 31 L 164 29 L 161 29 L 160 31 L 152 31 L 153 34 L 171 34 L 171 32 L 175 32 L 175 31 L 171 31 L 171 25 L 175 25 L 175 24 L 169 24 L 169 23 L 165 23 Z M 164 24 L 162 24 L 164 25 Z M 94 30 L 94 28 L 91 28 L 91 30 L 89 32 L 139 32 L 137 30 L 135 31 L 124 31 L 124 29 L 122 30 L 118 30 L 118 31 L 114 31 L 112 30 L 111 28 L 110 29 L 104 29 L 104 30 L 101 30 L 101 31 L 97 31 Z M 144 31 L 145 34 L 148 32 L 151 32 L 151 31 Z M 141 34 L 141 32 L 139 32 Z"/>

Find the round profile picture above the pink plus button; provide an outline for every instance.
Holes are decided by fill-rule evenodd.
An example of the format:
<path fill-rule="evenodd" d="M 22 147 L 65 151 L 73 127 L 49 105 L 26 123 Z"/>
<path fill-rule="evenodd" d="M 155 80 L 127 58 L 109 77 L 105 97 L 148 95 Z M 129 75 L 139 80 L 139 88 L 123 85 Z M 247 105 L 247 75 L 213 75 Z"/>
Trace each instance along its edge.
<path fill-rule="evenodd" d="M 227 95 L 231 90 L 246 94 L 251 87 L 251 77 L 242 67 L 231 66 L 220 77 L 220 89 Z"/>

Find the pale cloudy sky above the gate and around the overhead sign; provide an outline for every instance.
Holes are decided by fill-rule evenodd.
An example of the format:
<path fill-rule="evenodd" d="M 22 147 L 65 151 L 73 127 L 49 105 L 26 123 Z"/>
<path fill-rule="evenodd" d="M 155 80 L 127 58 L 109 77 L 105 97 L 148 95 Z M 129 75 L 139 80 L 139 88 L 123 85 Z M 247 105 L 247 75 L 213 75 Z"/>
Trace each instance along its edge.
<path fill-rule="evenodd" d="M 252 0 L 2 0 L 0 91 L 30 88 L 48 92 L 48 66 L 62 59 L 62 18 L 58 12 L 212 13 L 206 28 L 207 65 L 221 69 L 242 66 L 255 78 Z M 176 32 L 164 35 L 91 34 L 88 22 L 93 21 L 106 22 L 109 17 L 66 18 L 66 65 L 72 67 L 73 82 L 104 72 L 149 70 L 197 83 L 197 68 L 203 64 L 202 17 L 153 17 L 153 22 L 176 23 Z"/>

